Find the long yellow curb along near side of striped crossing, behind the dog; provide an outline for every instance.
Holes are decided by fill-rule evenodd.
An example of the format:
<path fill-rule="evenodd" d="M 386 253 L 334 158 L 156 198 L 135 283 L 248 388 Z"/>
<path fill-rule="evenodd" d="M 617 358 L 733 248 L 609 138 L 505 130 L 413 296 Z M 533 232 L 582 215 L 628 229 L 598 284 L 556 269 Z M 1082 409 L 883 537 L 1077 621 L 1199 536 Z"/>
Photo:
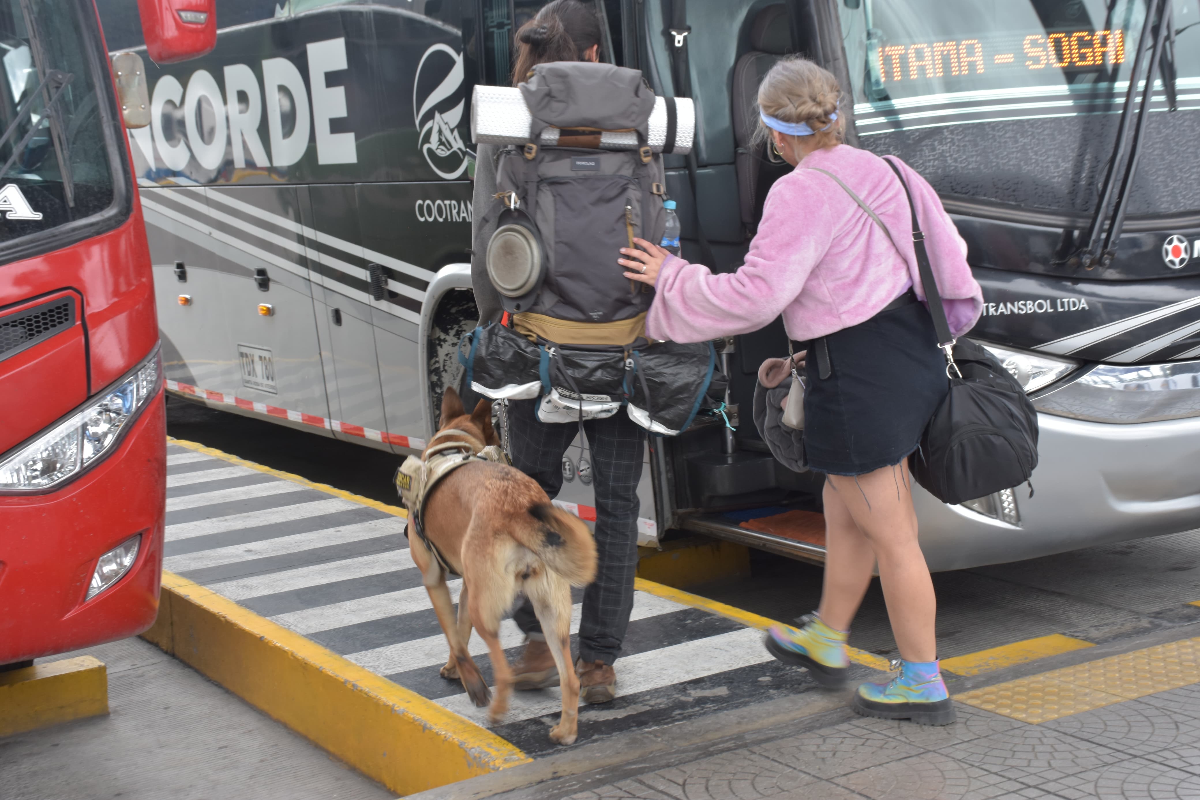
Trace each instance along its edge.
<path fill-rule="evenodd" d="M 400 794 L 532 760 L 490 730 L 172 572 L 163 571 L 158 620 L 143 638 Z"/>

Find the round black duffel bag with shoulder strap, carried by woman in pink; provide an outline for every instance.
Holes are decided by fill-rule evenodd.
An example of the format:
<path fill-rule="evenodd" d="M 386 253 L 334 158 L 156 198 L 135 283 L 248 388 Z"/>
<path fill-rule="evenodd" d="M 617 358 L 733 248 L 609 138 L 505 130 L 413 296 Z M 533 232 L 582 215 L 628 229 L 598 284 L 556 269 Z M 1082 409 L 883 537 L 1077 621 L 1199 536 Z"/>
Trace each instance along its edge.
<path fill-rule="evenodd" d="M 884 161 L 908 197 L 917 267 L 950 379 L 950 390 L 925 426 L 908 467 L 917 482 L 942 503 L 959 504 L 1020 486 L 1038 465 L 1037 410 L 1016 379 L 985 349 L 950 335 L 908 185 L 896 166 Z"/>

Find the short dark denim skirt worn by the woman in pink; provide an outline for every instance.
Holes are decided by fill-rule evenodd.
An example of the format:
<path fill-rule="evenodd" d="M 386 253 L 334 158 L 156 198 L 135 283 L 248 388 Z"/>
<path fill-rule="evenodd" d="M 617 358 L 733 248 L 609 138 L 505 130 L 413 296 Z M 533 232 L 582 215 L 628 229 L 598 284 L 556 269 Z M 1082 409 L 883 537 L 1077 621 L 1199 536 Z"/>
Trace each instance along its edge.
<path fill-rule="evenodd" d="M 899 464 L 949 391 L 946 356 L 920 302 L 882 311 L 824 337 L 829 374 L 809 343 L 804 451 L 809 469 L 864 475 Z"/>

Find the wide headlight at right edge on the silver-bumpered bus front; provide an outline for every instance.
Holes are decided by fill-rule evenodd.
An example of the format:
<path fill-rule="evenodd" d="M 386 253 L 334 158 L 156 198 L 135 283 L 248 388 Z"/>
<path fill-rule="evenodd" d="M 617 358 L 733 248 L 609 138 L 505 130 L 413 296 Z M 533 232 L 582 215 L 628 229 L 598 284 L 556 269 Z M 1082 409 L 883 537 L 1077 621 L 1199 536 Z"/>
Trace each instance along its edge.
<path fill-rule="evenodd" d="M 1092 367 L 1033 401 L 1046 414 L 1091 422 L 1158 422 L 1200 416 L 1200 361 Z"/>

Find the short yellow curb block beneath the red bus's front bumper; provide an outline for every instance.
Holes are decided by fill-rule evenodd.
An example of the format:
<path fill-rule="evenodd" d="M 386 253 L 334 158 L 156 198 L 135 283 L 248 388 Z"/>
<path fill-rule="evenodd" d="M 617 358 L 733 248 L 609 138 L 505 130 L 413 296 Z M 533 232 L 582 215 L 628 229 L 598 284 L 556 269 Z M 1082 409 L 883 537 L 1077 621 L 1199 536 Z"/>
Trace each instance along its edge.
<path fill-rule="evenodd" d="M 0 673 L 0 736 L 108 714 L 108 670 L 91 656 Z"/>

